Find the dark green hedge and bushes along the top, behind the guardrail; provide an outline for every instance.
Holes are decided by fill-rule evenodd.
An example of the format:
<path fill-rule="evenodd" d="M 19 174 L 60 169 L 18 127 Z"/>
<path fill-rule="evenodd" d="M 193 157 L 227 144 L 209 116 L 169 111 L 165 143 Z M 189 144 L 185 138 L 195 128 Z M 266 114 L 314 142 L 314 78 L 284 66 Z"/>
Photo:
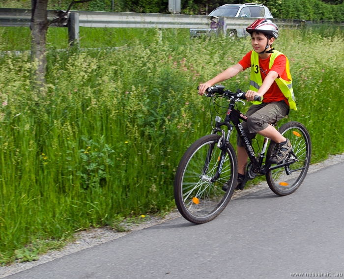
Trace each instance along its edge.
<path fill-rule="evenodd" d="M 181 13 L 207 15 L 224 4 L 243 4 L 247 0 L 181 0 Z M 258 0 L 274 18 L 344 21 L 343 0 Z M 66 10 L 69 0 L 50 0 L 48 9 Z M 113 5 L 114 3 L 114 5 Z M 78 4 L 79 10 L 139 13 L 169 13 L 168 0 L 92 0 Z M 31 8 L 29 0 L 2 0 L 0 8 Z"/>

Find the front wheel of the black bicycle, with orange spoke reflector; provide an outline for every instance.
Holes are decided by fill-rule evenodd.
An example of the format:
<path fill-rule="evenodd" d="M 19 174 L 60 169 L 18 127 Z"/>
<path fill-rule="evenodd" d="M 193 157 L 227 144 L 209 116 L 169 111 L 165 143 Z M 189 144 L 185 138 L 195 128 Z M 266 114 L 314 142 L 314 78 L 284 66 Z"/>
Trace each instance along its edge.
<path fill-rule="evenodd" d="M 220 136 L 213 134 L 196 140 L 185 152 L 174 179 L 174 200 L 180 214 L 189 222 L 201 224 L 216 218 L 227 206 L 236 186 L 237 158 L 233 146 L 227 146 L 220 178 L 216 173 L 221 149 Z M 222 186 L 228 182 L 228 190 Z"/>

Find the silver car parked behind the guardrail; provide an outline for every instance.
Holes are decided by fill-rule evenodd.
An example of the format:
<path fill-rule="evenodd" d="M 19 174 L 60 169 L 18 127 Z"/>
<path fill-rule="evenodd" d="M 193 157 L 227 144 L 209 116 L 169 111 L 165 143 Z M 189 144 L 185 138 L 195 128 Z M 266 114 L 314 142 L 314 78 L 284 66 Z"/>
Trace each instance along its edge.
<path fill-rule="evenodd" d="M 190 28 L 190 37 L 210 36 L 217 33 L 218 17 L 273 18 L 269 9 L 262 4 L 225 4 L 209 14 L 210 28 Z M 229 39 L 247 36 L 245 28 L 227 28 Z"/>

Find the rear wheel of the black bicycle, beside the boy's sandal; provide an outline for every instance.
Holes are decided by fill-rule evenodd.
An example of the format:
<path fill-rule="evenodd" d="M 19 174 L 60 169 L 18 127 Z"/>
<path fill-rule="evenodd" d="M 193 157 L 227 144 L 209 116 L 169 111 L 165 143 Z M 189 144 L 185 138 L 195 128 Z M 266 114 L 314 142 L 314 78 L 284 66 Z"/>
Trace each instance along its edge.
<path fill-rule="evenodd" d="M 285 167 L 271 170 L 265 175 L 266 182 L 271 191 L 276 195 L 284 196 L 294 193 L 305 179 L 311 161 L 312 142 L 306 127 L 296 121 L 291 121 L 282 125 L 279 132 L 290 140 L 293 147 L 293 153 L 299 160 L 299 162 L 289 166 L 292 171 L 289 175 L 287 175 Z M 268 162 L 271 157 L 275 145 L 276 143 L 274 141 L 270 142 L 266 154 L 266 162 Z"/>

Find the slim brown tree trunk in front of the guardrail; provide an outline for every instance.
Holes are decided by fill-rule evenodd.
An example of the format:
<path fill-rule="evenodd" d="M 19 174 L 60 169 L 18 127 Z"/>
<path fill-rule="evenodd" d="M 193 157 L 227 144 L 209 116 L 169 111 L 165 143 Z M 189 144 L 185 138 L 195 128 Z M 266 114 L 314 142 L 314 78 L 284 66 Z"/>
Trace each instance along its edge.
<path fill-rule="evenodd" d="M 48 0 L 31 0 L 31 57 L 38 61 L 36 79 L 40 85 L 45 83 L 47 69 L 46 40 L 49 27 L 47 19 Z"/>

